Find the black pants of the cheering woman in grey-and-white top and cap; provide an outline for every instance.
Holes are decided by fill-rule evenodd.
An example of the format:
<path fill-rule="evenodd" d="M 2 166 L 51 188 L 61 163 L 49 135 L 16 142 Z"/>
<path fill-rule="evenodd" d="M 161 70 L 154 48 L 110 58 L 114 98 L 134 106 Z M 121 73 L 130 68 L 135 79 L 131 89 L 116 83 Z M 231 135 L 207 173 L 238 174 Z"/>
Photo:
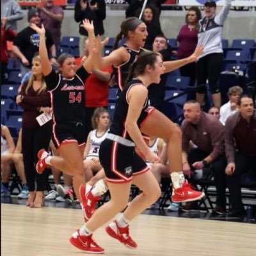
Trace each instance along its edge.
<path fill-rule="evenodd" d="M 209 81 L 212 94 L 219 93 L 219 78 L 223 63 L 223 53 L 211 53 L 198 60 L 196 63 L 197 85 L 205 85 Z M 206 87 L 198 88 L 198 93 L 205 93 Z"/>

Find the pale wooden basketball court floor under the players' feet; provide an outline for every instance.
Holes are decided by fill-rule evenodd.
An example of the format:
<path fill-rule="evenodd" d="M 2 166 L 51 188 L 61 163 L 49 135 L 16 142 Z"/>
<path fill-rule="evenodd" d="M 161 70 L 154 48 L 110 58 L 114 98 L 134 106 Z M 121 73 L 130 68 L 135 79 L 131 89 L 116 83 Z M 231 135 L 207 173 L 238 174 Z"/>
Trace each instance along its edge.
<path fill-rule="evenodd" d="M 81 210 L 1 204 L 1 255 L 89 255 L 68 239 L 83 224 Z M 138 243 L 131 250 L 106 234 L 95 232 L 106 256 L 255 256 L 256 225 L 228 221 L 141 214 L 131 223 Z"/>

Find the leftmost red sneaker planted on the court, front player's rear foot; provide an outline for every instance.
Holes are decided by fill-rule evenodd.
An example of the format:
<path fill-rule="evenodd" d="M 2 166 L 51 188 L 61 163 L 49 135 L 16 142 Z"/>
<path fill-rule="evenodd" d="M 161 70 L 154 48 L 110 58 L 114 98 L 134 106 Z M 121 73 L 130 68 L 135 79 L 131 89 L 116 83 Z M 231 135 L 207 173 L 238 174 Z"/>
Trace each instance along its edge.
<path fill-rule="evenodd" d="M 79 230 L 78 235 L 70 237 L 69 241 L 76 248 L 83 250 L 86 253 L 104 253 L 104 249 L 101 248 L 93 239 L 92 234 L 90 236 L 81 236 Z"/>

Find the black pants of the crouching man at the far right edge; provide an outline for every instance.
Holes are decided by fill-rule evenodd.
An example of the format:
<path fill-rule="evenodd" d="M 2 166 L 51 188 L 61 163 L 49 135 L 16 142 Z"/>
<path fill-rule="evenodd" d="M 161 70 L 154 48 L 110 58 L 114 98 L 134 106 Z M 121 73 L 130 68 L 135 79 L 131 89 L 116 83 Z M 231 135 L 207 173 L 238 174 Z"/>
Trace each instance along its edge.
<path fill-rule="evenodd" d="M 256 177 L 256 156 L 249 157 L 242 152 L 236 152 L 235 164 L 235 172 L 231 176 L 227 175 L 227 185 L 230 193 L 232 211 L 243 208 L 241 178 L 244 173 L 250 170 L 254 171 L 254 176 Z"/>

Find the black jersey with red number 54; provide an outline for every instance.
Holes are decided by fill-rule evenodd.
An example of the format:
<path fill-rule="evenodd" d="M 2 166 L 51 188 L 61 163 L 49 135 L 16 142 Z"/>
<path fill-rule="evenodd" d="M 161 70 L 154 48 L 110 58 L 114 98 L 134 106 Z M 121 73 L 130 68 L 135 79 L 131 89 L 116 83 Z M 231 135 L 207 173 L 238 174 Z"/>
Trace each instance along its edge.
<path fill-rule="evenodd" d="M 47 88 L 51 93 L 53 121 L 57 124 L 85 123 L 84 82 L 88 72 L 81 67 L 76 75 L 67 79 L 54 70 L 45 76 Z"/>

